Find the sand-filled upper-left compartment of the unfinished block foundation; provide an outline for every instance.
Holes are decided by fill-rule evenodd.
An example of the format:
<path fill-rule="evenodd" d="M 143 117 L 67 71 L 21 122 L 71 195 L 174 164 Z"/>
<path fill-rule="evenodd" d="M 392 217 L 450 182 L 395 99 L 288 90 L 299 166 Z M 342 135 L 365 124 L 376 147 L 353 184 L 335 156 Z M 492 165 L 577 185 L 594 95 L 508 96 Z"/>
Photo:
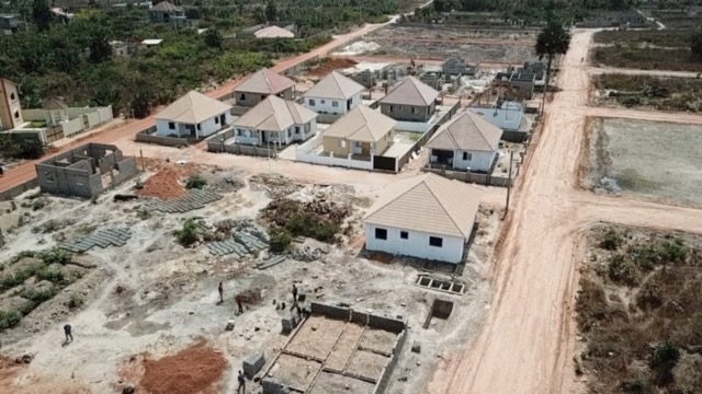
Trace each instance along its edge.
<path fill-rule="evenodd" d="M 287 350 L 325 360 L 343 331 L 346 322 L 312 316 L 297 332 Z"/>

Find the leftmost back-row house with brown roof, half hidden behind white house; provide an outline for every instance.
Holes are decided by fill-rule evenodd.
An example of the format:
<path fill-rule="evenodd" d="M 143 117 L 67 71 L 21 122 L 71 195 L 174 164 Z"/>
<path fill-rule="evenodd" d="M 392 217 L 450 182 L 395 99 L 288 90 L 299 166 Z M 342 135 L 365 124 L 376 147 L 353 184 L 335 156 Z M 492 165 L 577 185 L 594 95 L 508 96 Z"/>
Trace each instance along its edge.
<path fill-rule="evenodd" d="M 294 99 L 295 82 L 267 68 L 256 72 L 234 89 L 237 105 L 252 107 L 270 95 Z"/>

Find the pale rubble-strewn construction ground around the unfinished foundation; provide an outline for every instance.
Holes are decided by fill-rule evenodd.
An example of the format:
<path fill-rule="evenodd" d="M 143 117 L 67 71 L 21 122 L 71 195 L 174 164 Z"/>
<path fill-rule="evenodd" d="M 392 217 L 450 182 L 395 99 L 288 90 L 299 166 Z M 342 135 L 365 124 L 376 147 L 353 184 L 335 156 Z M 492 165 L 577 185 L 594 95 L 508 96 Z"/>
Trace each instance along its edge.
<path fill-rule="evenodd" d="M 184 213 L 163 213 L 154 208 L 154 204 L 161 202 L 152 195 L 177 196 L 193 173 L 206 181 L 206 190 L 218 193 L 223 198 Z M 417 262 L 394 256 L 377 262 L 367 259 L 362 253 L 360 219 L 377 197 L 382 184 L 317 185 L 282 176 L 250 175 L 238 169 L 223 171 L 149 160 L 147 173 L 141 176 L 140 197 L 133 201 L 113 201 L 115 194 L 135 193 L 135 184 L 127 182 L 101 196 L 95 204 L 34 197 L 32 192 L 15 200 L 18 208 L 14 211 L 10 202 L 2 202 L 0 225 L 5 244 L 1 252 L 0 276 L 2 283 L 10 283 L 5 278 L 12 278 L 10 291 L 19 292 L 20 298 L 5 297 L 2 291 L 0 308 L 3 311 L 22 309 L 33 298 L 29 290 L 39 285 L 48 288 L 53 286 L 52 280 L 60 287 L 53 291 L 53 299 L 33 310 L 27 309 L 26 313 L 22 309 L 21 320 L 14 322 L 13 327 L 1 328 L 0 355 L 10 357 L 7 360 L 29 355 L 30 363 L 4 370 L 0 374 L 0 386 L 21 394 L 41 392 L 39 383 L 50 383 L 55 389 L 53 392 L 78 387 L 82 392 L 111 393 L 125 385 L 143 392 L 145 387 L 170 387 L 166 384 L 181 379 L 173 374 L 182 373 L 189 384 L 234 392 L 236 371 L 244 358 L 263 350 L 267 360 L 272 362 L 272 355 L 288 339 L 281 334 L 281 318 L 291 312 L 288 308 L 279 306 L 281 302 L 290 305 L 290 289 L 295 282 L 308 300 L 344 302 L 359 311 L 401 315 L 411 327 L 422 326 L 437 297 L 452 299 L 454 308 L 448 324 L 412 329 L 408 340 L 421 344 L 422 351 L 410 352 L 409 346 L 403 351 L 388 389 L 389 393 L 404 393 L 423 387 L 437 368 L 439 357 L 462 346 L 466 338 L 469 340 L 486 313 L 489 283 L 484 273 L 497 237 L 497 211 L 480 211 L 480 231 L 472 244 L 465 267 L 454 278 L 465 286 L 466 293 L 446 296 L 415 285 L 421 266 Z M 339 243 L 295 239 L 285 260 L 265 270 L 257 269 L 256 264 L 269 260 L 272 255 L 267 250 L 240 257 L 211 253 L 213 242 L 220 241 L 223 235 L 226 239 L 226 229 L 267 228 L 269 223 L 262 210 L 281 197 L 299 201 L 305 207 L 306 204 L 321 204 L 319 201 L 335 201 L 336 209 L 350 207 L 343 233 L 338 234 Z M 35 205 L 36 200 L 43 202 Z M 4 213 L 5 210 L 9 212 Z M 196 241 L 184 247 L 180 244 L 182 237 L 177 237 L 174 230 L 182 230 L 188 218 L 196 219 L 199 230 Z M 16 260 L 12 258 L 21 251 L 52 251 L 73 237 L 113 227 L 131 229 L 132 236 L 125 246 L 95 246 L 77 256 L 76 263 L 48 264 L 39 258 L 41 254 L 34 259 L 29 255 Z M 94 268 L 82 268 L 88 264 Z M 30 267 L 34 267 L 31 273 L 25 269 Z M 82 277 L 73 280 L 73 271 L 78 270 Z M 20 271 L 23 274 L 16 277 Z M 59 275 L 64 275 L 65 283 L 57 279 Z M 440 273 L 430 275 L 448 278 Z M 42 279 L 45 283 L 37 280 L 39 276 L 46 278 Z M 20 285 L 15 283 L 20 281 Z M 217 294 L 220 281 L 223 304 L 218 303 Z M 82 302 L 77 301 L 77 306 L 71 306 L 71 294 L 82 297 Z M 235 313 L 237 294 L 246 296 L 241 315 Z M 225 332 L 230 320 L 235 327 Z M 73 327 L 75 341 L 61 346 L 61 326 L 66 322 Z M 324 343 L 322 347 L 314 344 L 319 341 L 322 331 L 331 333 L 333 327 L 318 324 L 315 327 L 316 332 L 313 328 L 301 333 L 297 340 L 312 344 L 308 348 L 316 351 L 330 349 L 333 343 Z M 363 346 L 386 350 L 386 338 L 374 331 L 362 335 L 350 329 L 348 336 L 349 346 L 361 341 Z M 369 361 L 372 354 L 352 357 L 343 344 L 341 341 L 337 347 L 338 356 L 355 360 L 353 371 L 380 373 L 375 361 Z M 319 356 L 324 356 L 324 351 Z M 206 362 L 202 368 L 185 368 L 199 364 L 201 360 Z M 5 359 L 0 359 L 0 363 L 4 362 Z M 83 368 L 88 362 L 91 368 Z M 216 367 L 216 373 L 205 366 Z M 205 372 L 212 373 L 202 379 Z M 304 374 L 299 379 L 303 378 Z M 338 382 L 331 378 L 322 375 L 319 390 L 337 387 Z M 363 382 L 354 384 L 359 390 L 369 389 Z M 249 382 L 247 386 L 257 387 L 257 384 Z M 169 394 L 197 392 L 188 391 L 184 385 L 179 387 L 180 391 Z"/>

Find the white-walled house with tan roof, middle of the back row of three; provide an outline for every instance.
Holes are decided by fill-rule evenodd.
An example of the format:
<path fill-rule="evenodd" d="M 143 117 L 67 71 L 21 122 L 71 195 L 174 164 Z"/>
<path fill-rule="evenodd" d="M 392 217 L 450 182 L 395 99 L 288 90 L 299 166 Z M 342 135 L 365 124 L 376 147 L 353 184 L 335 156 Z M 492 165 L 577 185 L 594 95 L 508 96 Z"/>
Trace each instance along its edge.
<path fill-rule="evenodd" d="M 337 71 L 303 94 L 304 105 L 318 114 L 343 115 L 361 104 L 362 84 Z"/>

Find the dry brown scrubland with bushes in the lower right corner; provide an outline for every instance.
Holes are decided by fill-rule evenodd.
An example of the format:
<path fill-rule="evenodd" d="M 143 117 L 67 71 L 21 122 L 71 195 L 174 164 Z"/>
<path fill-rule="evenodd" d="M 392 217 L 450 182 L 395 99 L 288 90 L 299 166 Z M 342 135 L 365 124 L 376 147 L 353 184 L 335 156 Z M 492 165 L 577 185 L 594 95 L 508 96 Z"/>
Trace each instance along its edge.
<path fill-rule="evenodd" d="M 587 236 L 576 373 L 592 393 L 699 393 L 702 240 L 602 225 Z"/>

